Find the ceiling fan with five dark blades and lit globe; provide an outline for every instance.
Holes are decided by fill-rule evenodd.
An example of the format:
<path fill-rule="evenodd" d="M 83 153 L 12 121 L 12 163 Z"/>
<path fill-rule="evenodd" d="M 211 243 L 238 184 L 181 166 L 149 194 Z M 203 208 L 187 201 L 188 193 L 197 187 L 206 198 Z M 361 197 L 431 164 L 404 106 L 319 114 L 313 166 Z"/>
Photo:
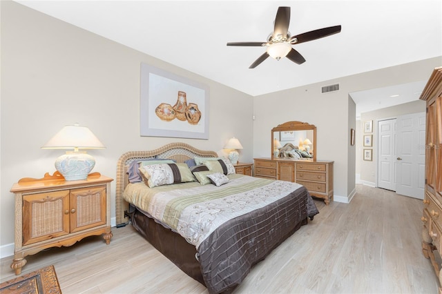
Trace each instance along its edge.
<path fill-rule="evenodd" d="M 266 52 L 258 57 L 249 68 L 256 68 L 256 66 L 262 63 L 262 61 L 265 61 L 269 56 L 276 60 L 287 57 L 294 63 L 301 64 L 305 62 L 305 59 L 298 51 L 291 47 L 292 45 L 320 39 L 340 32 L 340 26 L 330 26 L 291 37 L 289 23 L 290 8 L 280 6 L 278 12 L 276 12 L 275 28 L 273 29 L 273 33 L 267 38 L 267 42 L 229 42 L 227 46 L 267 46 Z"/>

